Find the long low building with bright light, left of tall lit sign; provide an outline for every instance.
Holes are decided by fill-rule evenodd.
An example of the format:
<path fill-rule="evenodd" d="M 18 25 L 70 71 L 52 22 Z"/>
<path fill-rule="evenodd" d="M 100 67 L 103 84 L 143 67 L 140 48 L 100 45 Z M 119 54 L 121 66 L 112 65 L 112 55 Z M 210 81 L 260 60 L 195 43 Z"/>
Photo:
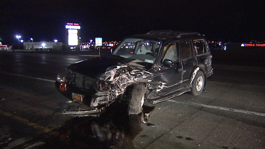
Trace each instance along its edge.
<path fill-rule="evenodd" d="M 41 51 L 46 50 L 62 50 L 62 42 L 23 42 L 24 50 L 40 49 Z"/>

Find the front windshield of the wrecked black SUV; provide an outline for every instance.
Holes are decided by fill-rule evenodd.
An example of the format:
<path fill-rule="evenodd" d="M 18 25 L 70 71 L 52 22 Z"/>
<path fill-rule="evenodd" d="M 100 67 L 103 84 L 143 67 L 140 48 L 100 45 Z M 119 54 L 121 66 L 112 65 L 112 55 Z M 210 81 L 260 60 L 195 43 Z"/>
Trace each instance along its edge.
<path fill-rule="evenodd" d="M 113 55 L 155 63 L 160 44 L 160 41 L 128 38 L 119 44 Z"/>

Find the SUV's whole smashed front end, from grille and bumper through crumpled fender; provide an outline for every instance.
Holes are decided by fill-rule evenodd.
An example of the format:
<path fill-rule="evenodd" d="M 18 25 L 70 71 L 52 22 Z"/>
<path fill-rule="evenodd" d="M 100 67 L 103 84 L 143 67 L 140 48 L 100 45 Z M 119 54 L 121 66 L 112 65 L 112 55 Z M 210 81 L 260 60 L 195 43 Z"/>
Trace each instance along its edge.
<path fill-rule="evenodd" d="M 73 101 L 82 102 L 92 108 L 109 106 L 124 94 L 126 88 L 136 82 L 147 82 L 152 73 L 134 60 L 122 66 L 108 67 L 98 79 L 74 72 L 68 67 L 68 75 L 57 75 L 56 86 Z"/>

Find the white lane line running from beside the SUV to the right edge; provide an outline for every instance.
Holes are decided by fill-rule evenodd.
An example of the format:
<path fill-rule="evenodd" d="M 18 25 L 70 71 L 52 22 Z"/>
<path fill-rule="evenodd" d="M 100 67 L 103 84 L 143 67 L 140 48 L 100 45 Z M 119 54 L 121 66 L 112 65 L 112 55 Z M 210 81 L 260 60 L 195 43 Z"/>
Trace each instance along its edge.
<path fill-rule="evenodd" d="M 240 109 L 233 109 L 233 108 L 225 108 L 225 107 L 219 107 L 219 106 L 214 106 L 214 105 L 204 105 L 204 104 L 198 104 L 198 103 L 192 103 L 192 102 L 180 102 L 180 101 L 175 101 L 175 100 L 172 100 L 172 99 L 167 100 L 167 101 L 175 102 L 175 103 L 179 103 L 179 104 L 202 106 L 202 107 L 211 108 L 211 109 L 219 109 L 219 110 L 238 112 L 238 113 L 244 113 L 244 114 L 251 114 L 251 115 L 258 115 L 258 116 L 265 117 L 265 113 L 258 113 L 258 112 L 252 112 L 252 111 L 246 111 L 246 110 L 240 110 Z"/>

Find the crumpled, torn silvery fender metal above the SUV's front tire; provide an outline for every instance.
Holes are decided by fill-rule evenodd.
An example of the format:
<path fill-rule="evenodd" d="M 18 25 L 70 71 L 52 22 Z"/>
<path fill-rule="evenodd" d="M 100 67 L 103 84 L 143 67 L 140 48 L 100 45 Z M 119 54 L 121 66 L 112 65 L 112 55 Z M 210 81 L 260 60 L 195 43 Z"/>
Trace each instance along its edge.
<path fill-rule="evenodd" d="M 109 67 L 104 75 L 104 79 L 97 82 L 98 92 L 94 94 L 90 107 L 97 107 L 102 104 L 110 104 L 117 96 L 124 94 L 126 88 L 136 82 L 151 81 L 153 73 L 146 71 L 143 65 L 138 64 L 140 60 L 134 60 L 123 66 Z M 160 85 L 158 85 L 160 84 Z M 156 91 L 163 88 L 164 83 L 154 83 L 152 87 Z M 157 88 L 158 87 L 158 88 Z"/>

